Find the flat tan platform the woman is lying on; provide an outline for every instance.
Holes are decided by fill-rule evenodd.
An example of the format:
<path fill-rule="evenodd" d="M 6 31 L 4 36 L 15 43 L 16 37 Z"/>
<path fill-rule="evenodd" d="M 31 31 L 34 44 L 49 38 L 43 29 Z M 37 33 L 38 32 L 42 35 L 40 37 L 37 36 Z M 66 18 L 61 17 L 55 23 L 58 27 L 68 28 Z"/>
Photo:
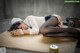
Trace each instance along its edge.
<path fill-rule="evenodd" d="M 76 43 L 77 40 L 71 37 L 43 37 L 43 35 L 13 37 L 7 31 L 0 34 L 0 46 L 39 52 L 49 52 L 49 46 L 56 44 L 59 46 L 59 53 L 74 53 Z"/>

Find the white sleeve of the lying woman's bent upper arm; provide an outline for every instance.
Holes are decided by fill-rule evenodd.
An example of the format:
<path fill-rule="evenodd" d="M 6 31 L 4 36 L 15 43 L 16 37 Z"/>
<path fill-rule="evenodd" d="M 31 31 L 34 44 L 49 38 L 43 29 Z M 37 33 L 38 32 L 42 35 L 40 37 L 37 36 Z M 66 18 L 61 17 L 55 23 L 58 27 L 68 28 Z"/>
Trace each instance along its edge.
<path fill-rule="evenodd" d="M 32 28 L 28 28 L 30 34 L 38 34 L 39 33 L 39 27 L 37 24 L 37 21 L 35 20 L 34 16 L 28 16 L 24 20 L 24 22 L 28 25 L 31 26 Z"/>

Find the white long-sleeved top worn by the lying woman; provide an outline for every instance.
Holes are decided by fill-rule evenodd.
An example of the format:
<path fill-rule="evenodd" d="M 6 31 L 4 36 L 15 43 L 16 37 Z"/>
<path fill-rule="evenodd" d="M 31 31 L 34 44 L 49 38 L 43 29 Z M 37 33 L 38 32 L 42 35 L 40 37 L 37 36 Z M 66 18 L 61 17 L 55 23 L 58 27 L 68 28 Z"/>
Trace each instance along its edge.
<path fill-rule="evenodd" d="M 32 28 L 29 28 L 30 34 L 33 33 L 39 33 L 39 28 L 41 25 L 45 22 L 44 17 L 38 17 L 38 16 L 27 16 L 24 20 L 24 23 L 27 24 L 28 26 L 31 26 Z"/>

